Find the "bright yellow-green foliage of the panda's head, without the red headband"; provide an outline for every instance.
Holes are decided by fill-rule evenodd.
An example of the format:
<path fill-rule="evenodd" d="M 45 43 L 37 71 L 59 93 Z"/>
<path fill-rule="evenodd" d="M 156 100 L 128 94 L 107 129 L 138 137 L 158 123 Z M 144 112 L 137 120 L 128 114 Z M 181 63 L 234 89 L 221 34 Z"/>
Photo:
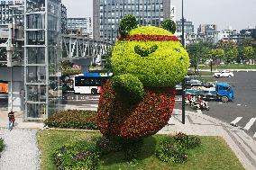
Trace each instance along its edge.
<path fill-rule="evenodd" d="M 157 27 L 140 27 L 130 34 L 172 35 L 169 31 Z M 157 33 L 156 33 L 157 32 Z M 158 47 L 155 52 L 142 57 L 135 50 Z M 115 76 L 132 74 L 137 76 L 144 86 L 174 86 L 187 74 L 189 58 L 186 49 L 177 41 L 117 41 L 111 58 Z"/>

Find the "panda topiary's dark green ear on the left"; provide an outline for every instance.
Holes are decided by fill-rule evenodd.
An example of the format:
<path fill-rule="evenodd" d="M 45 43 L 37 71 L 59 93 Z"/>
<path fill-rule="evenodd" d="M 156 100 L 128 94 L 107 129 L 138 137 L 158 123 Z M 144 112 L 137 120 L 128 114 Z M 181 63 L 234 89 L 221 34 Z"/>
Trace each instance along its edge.
<path fill-rule="evenodd" d="M 121 20 L 118 31 L 122 37 L 126 37 L 130 31 L 137 27 L 136 18 L 131 14 L 127 14 Z"/>

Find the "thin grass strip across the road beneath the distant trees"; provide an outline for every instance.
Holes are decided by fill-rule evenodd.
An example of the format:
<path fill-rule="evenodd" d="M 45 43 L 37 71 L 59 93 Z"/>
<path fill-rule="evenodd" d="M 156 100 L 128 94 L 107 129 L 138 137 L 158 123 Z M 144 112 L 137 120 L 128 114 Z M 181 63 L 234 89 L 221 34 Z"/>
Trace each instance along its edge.
<path fill-rule="evenodd" d="M 198 69 L 210 69 L 210 66 L 198 66 Z M 256 69 L 256 65 L 243 65 L 243 64 L 230 64 L 230 65 L 219 65 L 213 66 L 215 69 Z"/>

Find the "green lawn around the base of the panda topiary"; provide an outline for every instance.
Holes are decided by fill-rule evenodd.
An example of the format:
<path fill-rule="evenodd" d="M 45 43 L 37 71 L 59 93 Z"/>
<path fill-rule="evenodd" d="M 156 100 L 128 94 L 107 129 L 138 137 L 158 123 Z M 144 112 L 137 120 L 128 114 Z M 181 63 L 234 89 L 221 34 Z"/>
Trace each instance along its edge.
<path fill-rule="evenodd" d="M 38 132 L 38 143 L 41 150 L 41 169 L 55 170 L 52 162 L 52 153 L 66 143 L 78 139 L 88 139 L 99 136 L 98 132 L 67 131 L 67 130 L 44 130 Z M 123 153 L 117 152 L 106 155 L 100 161 L 101 170 L 178 170 L 178 169 L 244 169 L 233 151 L 220 137 L 200 137 L 202 147 L 190 150 L 185 164 L 170 165 L 160 162 L 154 156 L 154 148 L 157 140 L 162 136 L 157 135 L 145 139 L 142 152 L 134 164 L 123 161 Z"/>

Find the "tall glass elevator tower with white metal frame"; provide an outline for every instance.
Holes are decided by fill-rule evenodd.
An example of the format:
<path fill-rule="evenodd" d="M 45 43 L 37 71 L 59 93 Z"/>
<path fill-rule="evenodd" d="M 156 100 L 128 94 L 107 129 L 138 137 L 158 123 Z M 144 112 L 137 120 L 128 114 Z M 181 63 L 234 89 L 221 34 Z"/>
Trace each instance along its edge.
<path fill-rule="evenodd" d="M 26 0 L 24 12 L 24 121 L 44 121 L 61 96 L 60 0 Z"/>

